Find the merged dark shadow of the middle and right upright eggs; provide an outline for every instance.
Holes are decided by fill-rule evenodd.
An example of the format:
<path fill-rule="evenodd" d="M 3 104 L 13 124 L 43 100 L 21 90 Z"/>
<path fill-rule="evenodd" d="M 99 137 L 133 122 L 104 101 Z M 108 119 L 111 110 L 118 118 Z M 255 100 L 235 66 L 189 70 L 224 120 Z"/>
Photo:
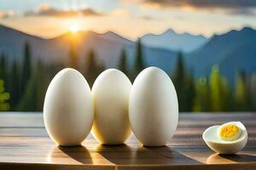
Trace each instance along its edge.
<path fill-rule="evenodd" d="M 97 153 L 115 165 L 170 165 L 170 164 L 201 164 L 167 146 L 145 147 L 127 144 L 103 145 L 96 148 Z"/>

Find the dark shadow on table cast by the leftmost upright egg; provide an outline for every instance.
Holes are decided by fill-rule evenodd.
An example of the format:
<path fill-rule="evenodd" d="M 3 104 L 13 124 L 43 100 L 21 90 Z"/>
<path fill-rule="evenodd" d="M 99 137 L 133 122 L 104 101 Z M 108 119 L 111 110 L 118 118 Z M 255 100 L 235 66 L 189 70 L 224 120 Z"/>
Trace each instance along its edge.
<path fill-rule="evenodd" d="M 73 158 L 75 161 L 79 161 L 82 164 L 92 164 L 90 152 L 83 145 L 57 146 L 56 148 L 61 150 L 67 156 Z"/>

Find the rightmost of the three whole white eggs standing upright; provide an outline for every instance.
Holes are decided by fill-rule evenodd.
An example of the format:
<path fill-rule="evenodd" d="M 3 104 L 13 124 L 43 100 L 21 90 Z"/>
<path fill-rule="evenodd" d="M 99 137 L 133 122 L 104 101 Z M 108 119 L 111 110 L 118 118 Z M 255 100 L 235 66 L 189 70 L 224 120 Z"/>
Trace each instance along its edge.
<path fill-rule="evenodd" d="M 165 71 L 148 67 L 131 88 L 131 129 L 144 145 L 165 145 L 177 129 L 177 94 Z"/>

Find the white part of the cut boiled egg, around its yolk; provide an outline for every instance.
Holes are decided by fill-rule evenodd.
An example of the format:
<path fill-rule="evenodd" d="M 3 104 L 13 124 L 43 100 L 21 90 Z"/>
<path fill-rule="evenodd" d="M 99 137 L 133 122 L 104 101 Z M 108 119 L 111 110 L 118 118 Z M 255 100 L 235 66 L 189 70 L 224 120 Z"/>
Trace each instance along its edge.
<path fill-rule="evenodd" d="M 220 139 L 218 137 L 219 127 L 219 125 L 208 127 L 202 134 L 202 138 L 204 139 L 205 143 L 213 151 L 217 152 L 218 154 L 236 154 L 247 144 L 247 130 L 242 124 L 240 125 L 241 137 L 234 141 Z"/>

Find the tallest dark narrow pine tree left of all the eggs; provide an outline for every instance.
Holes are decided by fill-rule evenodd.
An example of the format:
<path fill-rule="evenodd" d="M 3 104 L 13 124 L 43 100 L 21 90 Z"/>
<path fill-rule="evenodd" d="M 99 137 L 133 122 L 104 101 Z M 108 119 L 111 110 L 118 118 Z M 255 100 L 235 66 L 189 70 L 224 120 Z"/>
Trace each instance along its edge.
<path fill-rule="evenodd" d="M 28 81 L 32 76 L 32 57 L 31 57 L 31 50 L 28 42 L 25 42 L 24 46 L 24 59 L 21 71 L 21 83 L 20 83 L 20 92 L 21 95 L 24 95 Z"/>

